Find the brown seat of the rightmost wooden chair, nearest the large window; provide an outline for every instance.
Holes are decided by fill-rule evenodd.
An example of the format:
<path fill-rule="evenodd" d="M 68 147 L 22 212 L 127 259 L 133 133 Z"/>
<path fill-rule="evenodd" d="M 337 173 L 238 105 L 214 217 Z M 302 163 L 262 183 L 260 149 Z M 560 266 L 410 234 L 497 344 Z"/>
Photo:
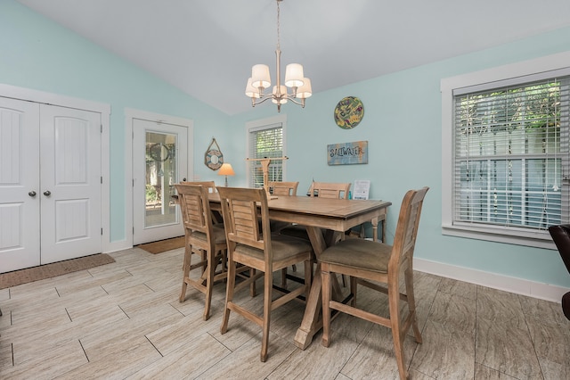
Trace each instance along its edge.
<path fill-rule="evenodd" d="M 392 245 L 364 239 L 346 239 L 322 252 L 319 261 L 387 273 L 391 252 Z"/>

